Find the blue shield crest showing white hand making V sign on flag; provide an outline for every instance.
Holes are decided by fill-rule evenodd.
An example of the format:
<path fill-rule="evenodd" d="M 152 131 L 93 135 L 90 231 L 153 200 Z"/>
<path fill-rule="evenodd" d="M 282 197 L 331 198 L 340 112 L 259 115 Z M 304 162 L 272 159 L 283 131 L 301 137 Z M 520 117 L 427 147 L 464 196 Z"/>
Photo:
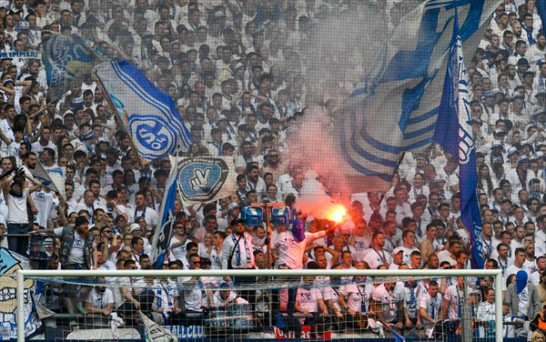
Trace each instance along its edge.
<path fill-rule="evenodd" d="M 178 163 L 178 184 L 190 201 L 210 201 L 227 181 L 229 167 L 222 158 L 188 158 Z"/>

